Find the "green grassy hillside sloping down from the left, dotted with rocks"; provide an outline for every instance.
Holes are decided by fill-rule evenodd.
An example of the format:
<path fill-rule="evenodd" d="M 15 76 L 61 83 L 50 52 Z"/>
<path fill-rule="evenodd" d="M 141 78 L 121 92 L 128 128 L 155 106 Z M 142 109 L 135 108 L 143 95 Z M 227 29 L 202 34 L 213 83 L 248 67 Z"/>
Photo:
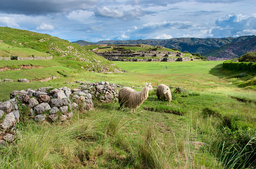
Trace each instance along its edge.
<path fill-rule="evenodd" d="M 38 72 L 31 72 L 26 75 L 26 78 L 33 80 L 37 78 L 45 78 L 41 72 L 44 67 L 60 66 L 65 69 L 66 75 L 76 71 L 95 71 L 108 72 L 117 69 L 111 61 L 97 56 L 95 53 L 83 49 L 77 43 L 70 43 L 68 40 L 60 39 L 49 34 L 36 33 L 28 30 L 21 30 L 9 27 L 0 27 L 0 56 L 3 59 L 10 58 L 10 55 L 19 56 L 20 59 L 27 59 L 28 57 L 53 57 L 48 61 L 36 60 L 0 60 L 0 68 L 5 69 L 6 66 L 13 69 L 19 69 L 24 65 L 37 65 L 43 67 L 43 70 Z M 34 59 L 34 58 L 33 58 Z M 52 69 L 50 74 L 58 73 L 58 69 Z M 28 70 L 32 71 L 32 70 Z M 34 74 L 36 73 L 36 74 Z M 49 74 L 49 75 L 50 75 Z M 11 72 L 0 73 L 0 78 L 18 78 L 13 77 Z M 20 76 L 25 78 L 25 76 Z"/>

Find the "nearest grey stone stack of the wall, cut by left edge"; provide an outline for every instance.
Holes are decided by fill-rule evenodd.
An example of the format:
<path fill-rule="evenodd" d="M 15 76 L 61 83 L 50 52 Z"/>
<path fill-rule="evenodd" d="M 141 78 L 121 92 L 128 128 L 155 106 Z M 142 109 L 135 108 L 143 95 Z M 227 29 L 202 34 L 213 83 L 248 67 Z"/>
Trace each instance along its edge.
<path fill-rule="evenodd" d="M 20 132 L 16 127 L 19 118 L 20 112 L 15 99 L 0 103 L 0 145 L 13 142 L 15 137 L 20 137 Z"/>

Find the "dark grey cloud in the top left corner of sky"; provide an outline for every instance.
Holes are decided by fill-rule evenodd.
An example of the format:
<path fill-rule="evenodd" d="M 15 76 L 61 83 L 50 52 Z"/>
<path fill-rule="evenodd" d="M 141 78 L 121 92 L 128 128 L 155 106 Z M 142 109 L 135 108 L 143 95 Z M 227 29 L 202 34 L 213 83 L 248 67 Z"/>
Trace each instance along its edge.
<path fill-rule="evenodd" d="M 45 15 L 96 7 L 100 0 L 0 0 L 5 13 Z"/>

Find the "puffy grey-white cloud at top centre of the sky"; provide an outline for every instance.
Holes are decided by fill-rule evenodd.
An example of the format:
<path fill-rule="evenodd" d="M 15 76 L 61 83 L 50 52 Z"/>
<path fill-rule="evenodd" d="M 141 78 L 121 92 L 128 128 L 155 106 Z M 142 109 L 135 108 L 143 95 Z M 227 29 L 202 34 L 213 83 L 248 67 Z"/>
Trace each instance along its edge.
<path fill-rule="evenodd" d="M 129 21 L 134 19 L 139 19 L 139 17 L 144 16 L 146 14 L 152 14 L 154 12 L 145 11 L 140 8 L 134 8 L 131 10 L 123 10 L 122 8 L 110 8 L 107 6 L 101 6 L 95 9 L 95 16 L 98 17 L 108 17 L 108 18 L 118 18 L 123 21 Z"/>

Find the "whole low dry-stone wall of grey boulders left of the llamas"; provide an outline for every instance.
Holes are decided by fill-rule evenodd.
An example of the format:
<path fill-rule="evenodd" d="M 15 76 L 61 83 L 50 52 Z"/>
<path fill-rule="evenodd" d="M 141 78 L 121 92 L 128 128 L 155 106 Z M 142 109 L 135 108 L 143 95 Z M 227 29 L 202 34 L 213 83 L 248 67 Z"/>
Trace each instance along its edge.
<path fill-rule="evenodd" d="M 16 123 L 20 121 L 20 107 L 28 107 L 28 116 L 35 121 L 66 121 L 73 115 L 74 109 L 93 110 L 93 98 L 102 102 L 118 100 L 118 89 L 108 81 L 81 82 L 78 88 L 40 87 L 36 90 L 14 90 L 10 100 L 0 102 L 0 145 L 13 142 L 21 136 Z"/>

